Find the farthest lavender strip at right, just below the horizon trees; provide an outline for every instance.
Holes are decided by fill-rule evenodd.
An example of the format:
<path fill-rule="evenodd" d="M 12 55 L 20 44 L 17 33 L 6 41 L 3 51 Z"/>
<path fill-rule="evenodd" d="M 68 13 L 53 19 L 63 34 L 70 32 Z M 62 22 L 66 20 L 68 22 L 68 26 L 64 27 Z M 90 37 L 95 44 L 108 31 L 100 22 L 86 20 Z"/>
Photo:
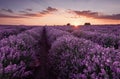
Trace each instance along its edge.
<path fill-rule="evenodd" d="M 79 30 L 120 36 L 120 26 L 114 26 L 114 25 L 81 26 Z"/>

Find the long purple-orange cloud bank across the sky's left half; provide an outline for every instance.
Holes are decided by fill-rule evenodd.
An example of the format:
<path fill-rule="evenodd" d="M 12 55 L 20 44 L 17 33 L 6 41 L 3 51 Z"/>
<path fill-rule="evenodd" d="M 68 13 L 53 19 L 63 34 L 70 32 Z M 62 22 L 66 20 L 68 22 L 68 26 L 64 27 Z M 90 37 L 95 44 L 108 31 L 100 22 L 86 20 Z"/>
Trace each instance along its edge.
<path fill-rule="evenodd" d="M 6 12 L 12 13 L 13 11 L 10 9 L 2 9 Z M 25 9 L 24 11 L 19 11 L 19 14 L 6 14 L 3 12 L 0 12 L 0 18 L 29 18 L 29 17 L 44 17 L 47 14 L 51 14 L 53 12 L 58 11 L 56 8 L 47 7 L 45 10 L 42 10 L 41 12 L 32 12 L 32 9 Z"/>

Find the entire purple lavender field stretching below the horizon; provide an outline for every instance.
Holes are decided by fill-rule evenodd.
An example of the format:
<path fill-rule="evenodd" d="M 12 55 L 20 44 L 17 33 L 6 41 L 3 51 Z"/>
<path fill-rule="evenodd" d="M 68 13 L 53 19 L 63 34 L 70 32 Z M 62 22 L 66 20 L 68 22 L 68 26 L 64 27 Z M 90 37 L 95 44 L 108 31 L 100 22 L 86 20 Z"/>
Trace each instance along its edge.
<path fill-rule="evenodd" d="M 0 25 L 0 79 L 120 79 L 120 25 Z"/>

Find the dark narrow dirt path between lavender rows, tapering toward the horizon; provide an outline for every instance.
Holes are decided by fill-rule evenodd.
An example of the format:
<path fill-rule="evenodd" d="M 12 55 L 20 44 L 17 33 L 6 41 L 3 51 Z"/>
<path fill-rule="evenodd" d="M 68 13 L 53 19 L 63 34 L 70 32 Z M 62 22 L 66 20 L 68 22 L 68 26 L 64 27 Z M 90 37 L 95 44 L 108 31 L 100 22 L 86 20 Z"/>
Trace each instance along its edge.
<path fill-rule="evenodd" d="M 56 79 L 51 74 L 51 69 L 48 68 L 49 59 L 48 59 L 48 53 L 50 46 L 48 46 L 47 43 L 47 37 L 46 37 L 46 29 L 44 28 L 43 34 L 42 34 L 42 41 L 40 42 L 40 52 L 38 54 L 39 63 L 40 66 L 36 68 L 34 79 Z"/>

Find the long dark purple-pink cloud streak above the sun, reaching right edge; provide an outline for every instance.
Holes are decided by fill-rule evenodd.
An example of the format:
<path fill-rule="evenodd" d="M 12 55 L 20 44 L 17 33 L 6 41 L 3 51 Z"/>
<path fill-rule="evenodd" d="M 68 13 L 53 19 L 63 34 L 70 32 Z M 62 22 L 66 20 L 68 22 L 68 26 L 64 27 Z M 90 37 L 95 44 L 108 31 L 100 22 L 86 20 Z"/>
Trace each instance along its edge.
<path fill-rule="evenodd" d="M 75 11 L 75 10 L 68 10 L 68 13 L 76 14 L 77 16 L 85 16 L 88 18 L 95 18 L 95 19 L 112 19 L 112 20 L 120 20 L 120 14 L 112 14 L 112 15 L 104 15 L 99 12 L 92 12 L 88 11 Z"/>

